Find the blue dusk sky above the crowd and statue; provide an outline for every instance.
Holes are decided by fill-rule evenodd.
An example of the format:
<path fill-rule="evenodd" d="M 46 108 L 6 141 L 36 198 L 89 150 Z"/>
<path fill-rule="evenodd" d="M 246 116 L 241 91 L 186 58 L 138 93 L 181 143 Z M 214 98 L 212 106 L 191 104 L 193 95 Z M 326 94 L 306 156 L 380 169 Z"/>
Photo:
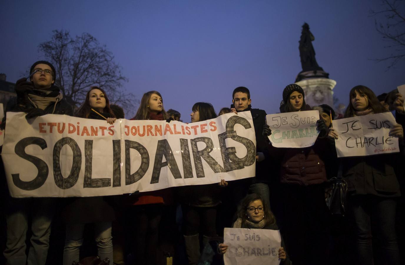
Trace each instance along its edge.
<path fill-rule="evenodd" d="M 355 85 L 378 95 L 405 83 L 404 60 L 389 71 L 388 62 L 371 60 L 392 52 L 369 15 L 382 8 L 379 0 L 3 0 L 0 6 L 0 73 L 7 81 L 44 59 L 38 44 L 52 30 L 87 32 L 115 56 L 128 78 L 125 90 L 138 99 L 158 90 L 164 108 L 180 111 L 184 122 L 196 102 L 229 107 L 238 86 L 249 88 L 252 107 L 277 112 L 283 88 L 302 70 L 304 22 L 341 103 L 347 105 Z M 126 118 L 135 112 L 127 109 Z"/>

